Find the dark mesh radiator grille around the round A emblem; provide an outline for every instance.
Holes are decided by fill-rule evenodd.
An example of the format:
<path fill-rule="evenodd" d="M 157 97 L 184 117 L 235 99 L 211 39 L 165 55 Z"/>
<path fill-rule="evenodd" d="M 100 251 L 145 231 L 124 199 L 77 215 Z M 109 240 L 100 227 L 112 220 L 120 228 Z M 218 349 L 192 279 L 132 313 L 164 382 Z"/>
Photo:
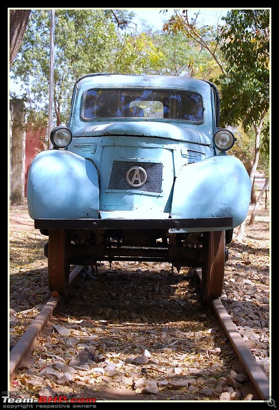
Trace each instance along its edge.
<path fill-rule="evenodd" d="M 132 167 L 141 167 L 147 174 L 147 179 L 141 187 L 131 187 L 126 180 L 126 172 Z M 154 192 L 160 194 L 162 192 L 162 173 L 162 163 L 113 161 L 108 189 Z"/>

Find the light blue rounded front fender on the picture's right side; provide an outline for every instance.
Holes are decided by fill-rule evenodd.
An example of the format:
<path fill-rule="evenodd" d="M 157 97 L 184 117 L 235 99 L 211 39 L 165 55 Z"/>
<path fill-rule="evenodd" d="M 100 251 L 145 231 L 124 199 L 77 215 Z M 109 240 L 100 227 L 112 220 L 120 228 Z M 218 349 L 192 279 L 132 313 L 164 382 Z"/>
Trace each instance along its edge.
<path fill-rule="evenodd" d="M 243 163 L 219 154 L 184 166 L 175 181 L 172 218 L 232 217 L 233 228 L 246 218 L 251 180 Z"/>

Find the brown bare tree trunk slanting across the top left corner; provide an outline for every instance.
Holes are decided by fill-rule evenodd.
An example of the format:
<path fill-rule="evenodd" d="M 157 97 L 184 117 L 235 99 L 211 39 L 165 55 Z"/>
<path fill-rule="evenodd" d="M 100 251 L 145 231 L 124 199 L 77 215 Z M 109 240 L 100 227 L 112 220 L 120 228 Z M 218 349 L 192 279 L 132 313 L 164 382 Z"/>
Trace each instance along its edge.
<path fill-rule="evenodd" d="M 22 44 L 31 10 L 10 10 L 10 66 Z"/>

